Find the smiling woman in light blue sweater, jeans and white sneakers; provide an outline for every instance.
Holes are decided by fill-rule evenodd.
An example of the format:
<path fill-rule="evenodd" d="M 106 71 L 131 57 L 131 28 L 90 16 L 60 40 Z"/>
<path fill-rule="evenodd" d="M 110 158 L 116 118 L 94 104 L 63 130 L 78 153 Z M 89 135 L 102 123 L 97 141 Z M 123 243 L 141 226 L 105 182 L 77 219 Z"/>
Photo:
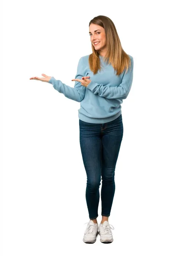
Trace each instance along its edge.
<path fill-rule="evenodd" d="M 112 20 L 94 17 L 89 23 L 92 54 L 79 59 L 74 88 L 52 76 L 32 77 L 53 84 L 65 97 L 80 102 L 79 140 L 87 174 L 86 202 L 90 221 L 83 241 L 111 243 L 113 236 L 108 217 L 115 193 L 114 173 L 123 137 L 122 100 L 133 81 L 133 57 L 122 49 Z M 102 177 L 102 220 L 97 223 L 99 186 Z M 113 227 L 113 226 L 112 226 Z M 98 230 L 99 228 L 99 230 Z"/>

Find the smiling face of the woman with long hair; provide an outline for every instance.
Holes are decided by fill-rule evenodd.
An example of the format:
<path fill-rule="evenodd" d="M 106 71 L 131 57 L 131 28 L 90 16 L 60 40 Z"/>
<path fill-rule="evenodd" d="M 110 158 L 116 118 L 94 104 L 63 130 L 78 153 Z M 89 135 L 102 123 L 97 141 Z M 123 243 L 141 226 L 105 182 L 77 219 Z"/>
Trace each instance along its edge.
<path fill-rule="evenodd" d="M 99 52 L 105 52 L 106 50 L 106 38 L 105 38 L 105 29 L 99 25 L 91 23 L 89 26 L 89 35 L 91 38 L 91 43 L 94 45 L 96 50 Z M 94 44 L 99 42 L 98 44 Z"/>

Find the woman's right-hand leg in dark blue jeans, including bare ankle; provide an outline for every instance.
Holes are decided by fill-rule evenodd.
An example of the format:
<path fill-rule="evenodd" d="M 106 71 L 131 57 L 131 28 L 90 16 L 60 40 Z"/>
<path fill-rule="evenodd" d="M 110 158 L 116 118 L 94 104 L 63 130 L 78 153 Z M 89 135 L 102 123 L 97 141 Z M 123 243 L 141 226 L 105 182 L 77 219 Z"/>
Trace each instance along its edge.
<path fill-rule="evenodd" d="M 115 193 L 115 167 L 123 137 L 122 114 L 106 123 L 102 136 L 102 223 L 110 216 Z"/>

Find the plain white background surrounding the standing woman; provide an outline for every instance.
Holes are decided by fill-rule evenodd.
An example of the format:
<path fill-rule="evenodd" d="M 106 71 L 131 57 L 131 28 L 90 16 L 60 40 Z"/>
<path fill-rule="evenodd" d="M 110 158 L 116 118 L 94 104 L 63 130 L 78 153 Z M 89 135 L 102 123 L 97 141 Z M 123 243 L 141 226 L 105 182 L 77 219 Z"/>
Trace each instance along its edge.
<path fill-rule="evenodd" d="M 1 255 L 170 255 L 167 3 L 4 1 Z M 74 87 L 79 58 L 92 53 L 88 26 L 98 15 L 111 18 L 134 61 L 108 245 L 99 236 L 93 245 L 82 241 L 89 217 L 80 103 L 30 80 L 45 73 Z M 100 223 L 101 199 L 98 213 Z"/>

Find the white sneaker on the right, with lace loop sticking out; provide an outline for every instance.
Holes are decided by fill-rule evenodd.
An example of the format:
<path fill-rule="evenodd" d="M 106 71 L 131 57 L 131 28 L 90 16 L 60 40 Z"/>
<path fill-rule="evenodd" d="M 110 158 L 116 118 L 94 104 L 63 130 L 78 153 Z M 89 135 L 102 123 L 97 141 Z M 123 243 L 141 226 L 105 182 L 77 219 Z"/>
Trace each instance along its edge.
<path fill-rule="evenodd" d="M 104 221 L 103 224 L 99 224 L 99 235 L 100 235 L 100 241 L 102 243 L 111 243 L 113 242 L 113 236 L 111 229 L 114 230 L 114 227 L 111 228 L 111 224 L 108 224 L 108 221 Z"/>

